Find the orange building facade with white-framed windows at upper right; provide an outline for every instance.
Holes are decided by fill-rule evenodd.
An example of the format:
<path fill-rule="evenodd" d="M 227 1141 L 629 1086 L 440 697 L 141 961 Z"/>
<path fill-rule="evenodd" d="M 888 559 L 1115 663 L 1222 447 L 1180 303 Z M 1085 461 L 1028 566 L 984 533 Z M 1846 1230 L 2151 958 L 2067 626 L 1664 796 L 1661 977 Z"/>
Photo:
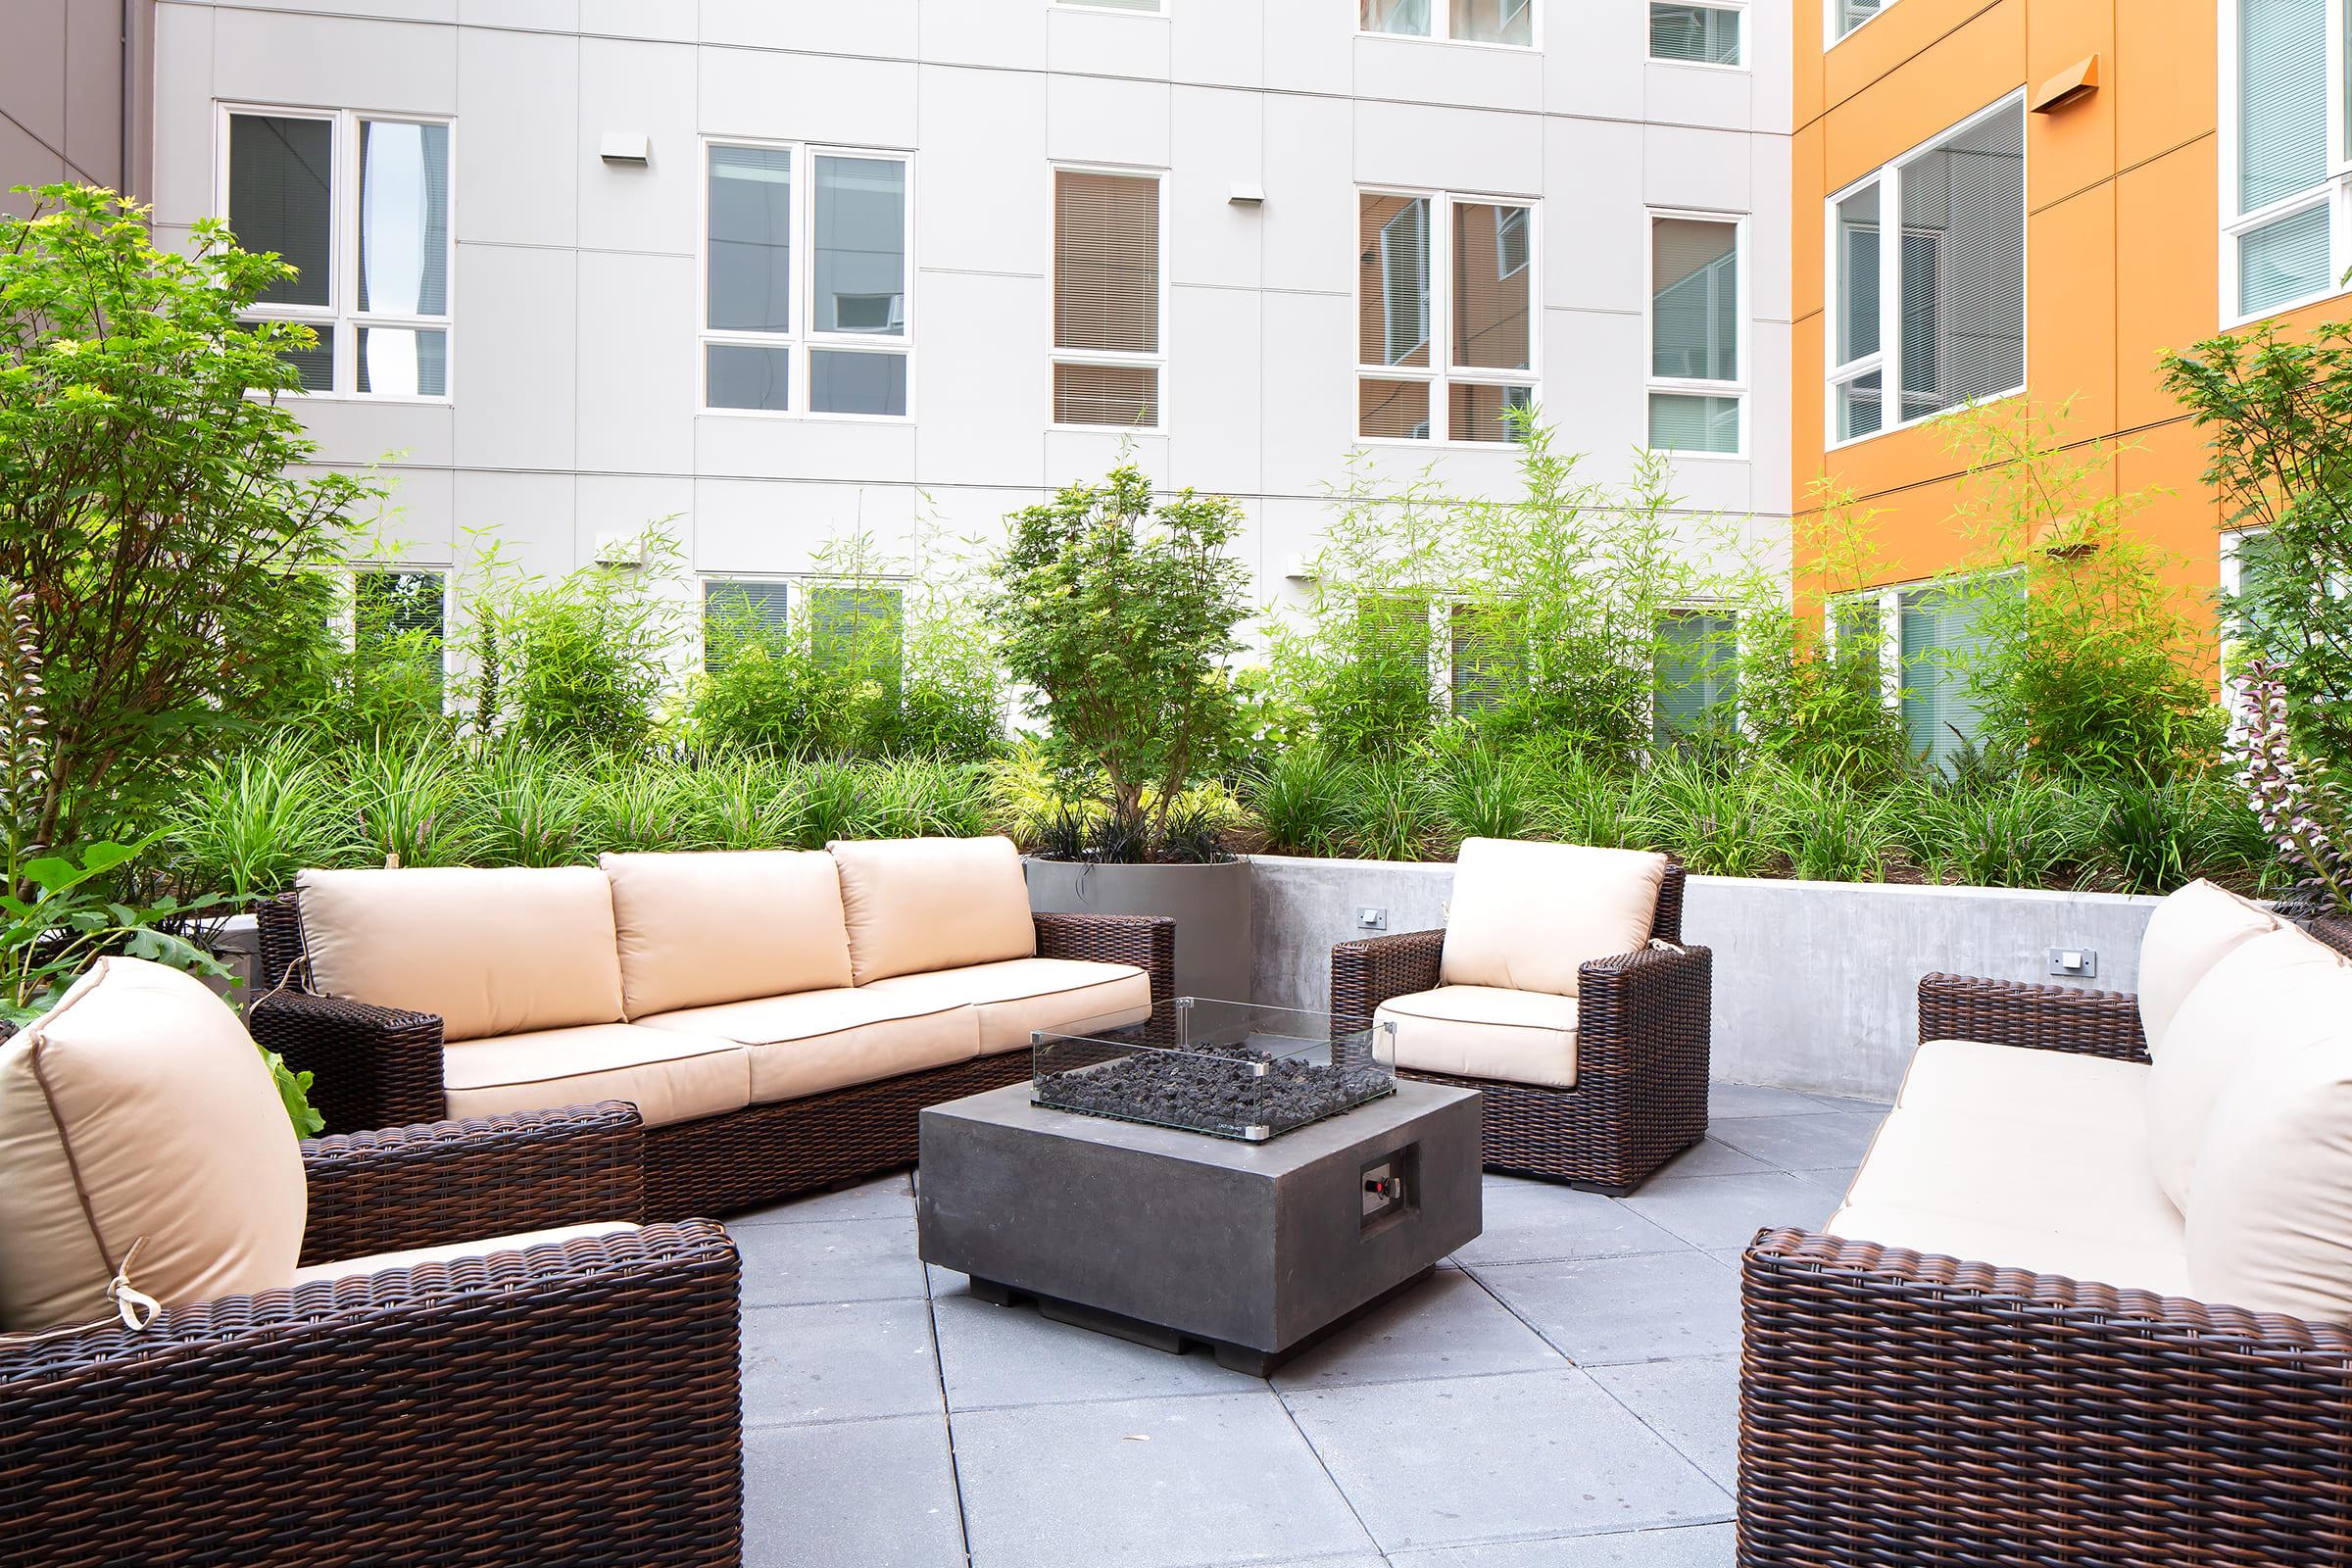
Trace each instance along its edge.
<path fill-rule="evenodd" d="M 2114 454 L 2183 583 L 2234 581 L 2204 435 L 2157 357 L 2343 313 L 2345 7 L 2331 0 L 1825 0 L 1795 9 L 1795 473 L 1875 510 L 1891 658 L 1964 644 L 1926 581 L 1969 564 L 1933 416 L 2023 393 Z M 1825 583 L 1797 559 L 1799 588 Z M 1832 616 L 1837 618 L 1837 616 Z M 1872 616 L 1851 618 L 1867 623 Z M 1915 743 L 1973 715 L 1903 677 Z"/>

